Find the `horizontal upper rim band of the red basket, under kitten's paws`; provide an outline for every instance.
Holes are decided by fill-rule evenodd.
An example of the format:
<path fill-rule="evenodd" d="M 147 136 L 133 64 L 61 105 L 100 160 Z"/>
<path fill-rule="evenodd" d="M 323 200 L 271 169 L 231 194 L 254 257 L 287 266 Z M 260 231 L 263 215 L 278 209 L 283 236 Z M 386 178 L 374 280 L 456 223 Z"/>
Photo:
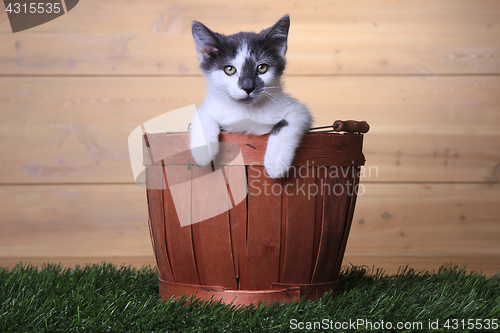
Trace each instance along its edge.
<path fill-rule="evenodd" d="M 189 132 L 145 133 L 143 165 L 195 165 L 189 144 Z M 251 135 L 222 132 L 216 165 L 263 166 L 269 134 Z M 363 134 L 308 132 L 304 135 L 293 166 L 361 166 Z M 242 154 L 242 159 L 235 157 Z"/>

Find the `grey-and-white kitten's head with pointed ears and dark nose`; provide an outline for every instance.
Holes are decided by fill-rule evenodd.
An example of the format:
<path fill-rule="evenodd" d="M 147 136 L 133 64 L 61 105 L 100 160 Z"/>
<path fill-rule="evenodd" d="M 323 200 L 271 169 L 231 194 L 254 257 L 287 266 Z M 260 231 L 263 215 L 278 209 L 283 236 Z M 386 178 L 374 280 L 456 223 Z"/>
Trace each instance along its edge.
<path fill-rule="evenodd" d="M 210 88 L 245 104 L 271 97 L 273 91 L 281 89 L 289 28 L 288 15 L 258 34 L 239 32 L 229 36 L 194 21 L 196 53 Z"/>

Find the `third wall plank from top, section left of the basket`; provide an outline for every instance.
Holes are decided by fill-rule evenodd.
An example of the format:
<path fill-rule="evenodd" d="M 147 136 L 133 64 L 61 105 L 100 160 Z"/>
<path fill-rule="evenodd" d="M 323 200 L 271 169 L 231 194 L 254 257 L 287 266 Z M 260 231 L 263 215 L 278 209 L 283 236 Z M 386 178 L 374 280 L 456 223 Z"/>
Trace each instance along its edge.
<path fill-rule="evenodd" d="M 0 187 L 0 256 L 151 256 L 137 185 Z"/>

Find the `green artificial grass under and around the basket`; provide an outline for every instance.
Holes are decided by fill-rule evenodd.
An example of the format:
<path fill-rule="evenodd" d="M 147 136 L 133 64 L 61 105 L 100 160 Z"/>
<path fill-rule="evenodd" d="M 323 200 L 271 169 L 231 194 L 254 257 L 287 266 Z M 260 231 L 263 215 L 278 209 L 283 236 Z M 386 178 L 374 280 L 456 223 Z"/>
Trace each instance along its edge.
<path fill-rule="evenodd" d="M 18 265 L 0 268 L 0 282 L 0 332 L 500 332 L 500 275 L 451 265 L 394 276 L 351 267 L 337 298 L 267 307 L 161 302 L 150 267 Z"/>

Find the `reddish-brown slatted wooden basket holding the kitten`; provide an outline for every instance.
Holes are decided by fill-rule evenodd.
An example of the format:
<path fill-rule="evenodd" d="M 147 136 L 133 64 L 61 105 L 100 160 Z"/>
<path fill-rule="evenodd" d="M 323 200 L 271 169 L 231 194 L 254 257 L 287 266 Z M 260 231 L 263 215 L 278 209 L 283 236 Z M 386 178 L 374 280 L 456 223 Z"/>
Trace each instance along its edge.
<path fill-rule="evenodd" d="M 168 183 L 182 179 L 189 184 L 217 168 L 194 165 L 189 133 L 144 138 L 149 226 L 164 300 L 184 294 L 248 305 L 304 296 L 315 300 L 328 290 L 337 295 L 359 169 L 365 162 L 362 134 L 306 134 L 292 172 L 275 180 L 263 167 L 267 135 L 222 133 L 216 164 L 223 165 L 225 177 L 231 177 L 231 168 L 242 168 L 224 162 L 225 156 L 241 153 L 247 179 L 258 181 L 248 186 L 245 200 L 184 227 Z M 234 149 L 239 152 L 230 151 Z M 288 191 L 271 191 L 273 186 Z M 184 188 L 187 198 L 199 191 L 194 185 Z M 206 198 L 217 195 L 210 184 L 205 191 L 201 195 Z M 195 214 L 200 206 L 191 203 L 191 209 Z"/>

